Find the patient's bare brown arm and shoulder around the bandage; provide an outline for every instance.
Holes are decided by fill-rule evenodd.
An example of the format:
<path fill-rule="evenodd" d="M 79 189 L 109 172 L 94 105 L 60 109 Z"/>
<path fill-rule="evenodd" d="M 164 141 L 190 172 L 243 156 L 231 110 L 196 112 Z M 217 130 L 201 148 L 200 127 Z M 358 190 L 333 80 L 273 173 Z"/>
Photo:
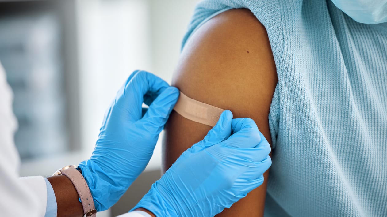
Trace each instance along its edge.
<path fill-rule="evenodd" d="M 223 12 L 202 25 L 182 51 L 172 85 L 200 102 L 250 117 L 271 144 L 269 109 L 277 84 L 265 27 L 247 9 Z M 163 171 L 211 127 L 170 115 L 163 141 Z M 217 216 L 263 216 L 265 181 Z"/>

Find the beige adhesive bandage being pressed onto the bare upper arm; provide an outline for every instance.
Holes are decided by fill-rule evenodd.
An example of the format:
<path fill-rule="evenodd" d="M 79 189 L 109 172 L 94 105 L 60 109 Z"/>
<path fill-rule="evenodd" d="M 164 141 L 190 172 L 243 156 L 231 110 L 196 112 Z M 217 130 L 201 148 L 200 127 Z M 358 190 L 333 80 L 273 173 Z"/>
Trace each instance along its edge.
<path fill-rule="evenodd" d="M 173 110 L 186 119 L 211 127 L 216 125 L 220 115 L 224 111 L 224 109 L 189 98 L 182 92 L 180 92 L 179 99 Z"/>

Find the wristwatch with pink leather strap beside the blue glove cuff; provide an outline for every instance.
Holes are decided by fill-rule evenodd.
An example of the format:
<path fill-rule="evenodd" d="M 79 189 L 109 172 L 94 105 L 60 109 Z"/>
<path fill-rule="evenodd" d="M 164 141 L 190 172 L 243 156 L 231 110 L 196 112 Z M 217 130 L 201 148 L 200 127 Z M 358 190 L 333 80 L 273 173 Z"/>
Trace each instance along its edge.
<path fill-rule="evenodd" d="M 91 196 L 89 186 L 80 171 L 77 170 L 76 166 L 65 166 L 53 174 L 53 176 L 57 175 L 65 175 L 73 183 L 78 192 L 80 201 L 82 202 L 83 212 L 86 217 L 96 217 L 97 210 L 94 207 L 94 200 Z"/>

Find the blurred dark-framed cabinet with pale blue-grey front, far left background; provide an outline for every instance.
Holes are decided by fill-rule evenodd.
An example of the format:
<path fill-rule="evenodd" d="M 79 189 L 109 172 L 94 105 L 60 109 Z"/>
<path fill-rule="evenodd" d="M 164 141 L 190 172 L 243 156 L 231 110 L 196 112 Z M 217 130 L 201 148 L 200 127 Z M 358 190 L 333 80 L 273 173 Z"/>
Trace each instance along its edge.
<path fill-rule="evenodd" d="M 63 34 L 68 22 L 63 20 L 64 6 L 50 1 L 0 2 L 0 61 L 14 92 L 19 122 L 15 144 L 22 159 L 77 148 L 71 131 L 77 120 L 69 118 L 77 105 L 66 75 L 71 61 L 63 50 L 68 41 L 68 34 Z"/>

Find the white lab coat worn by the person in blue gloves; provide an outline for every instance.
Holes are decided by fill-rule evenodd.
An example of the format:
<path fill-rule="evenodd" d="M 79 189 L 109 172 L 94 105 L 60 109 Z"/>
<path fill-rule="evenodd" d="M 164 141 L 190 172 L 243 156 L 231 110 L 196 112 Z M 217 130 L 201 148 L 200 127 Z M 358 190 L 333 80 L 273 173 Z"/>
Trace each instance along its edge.
<path fill-rule="evenodd" d="M 43 217 L 46 213 L 47 188 L 42 176 L 19 178 L 20 158 L 14 144 L 17 121 L 12 112 L 12 91 L 0 63 L 0 216 Z M 130 207 L 128 207 L 130 209 Z M 130 212 L 120 217 L 149 217 Z"/>

